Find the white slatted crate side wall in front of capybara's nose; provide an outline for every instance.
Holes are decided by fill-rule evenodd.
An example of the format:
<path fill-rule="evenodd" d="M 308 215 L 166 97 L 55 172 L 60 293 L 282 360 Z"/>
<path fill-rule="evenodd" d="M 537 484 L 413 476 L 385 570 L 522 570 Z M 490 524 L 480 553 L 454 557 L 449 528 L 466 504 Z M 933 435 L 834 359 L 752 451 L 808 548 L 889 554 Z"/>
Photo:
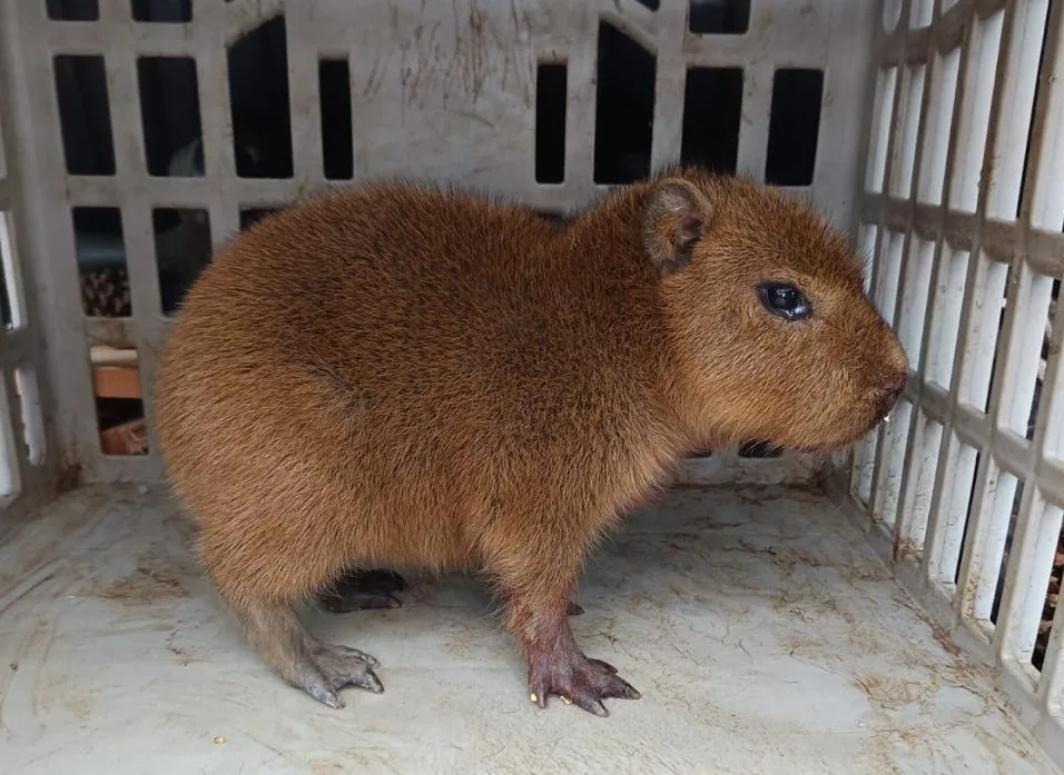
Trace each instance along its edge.
<path fill-rule="evenodd" d="M 1032 656 L 1064 505 L 1064 14 L 914 0 L 883 19 L 859 223 L 912 379 L 847 500 L 1061 762 L 1060 608 L 1041 670 Z"/>

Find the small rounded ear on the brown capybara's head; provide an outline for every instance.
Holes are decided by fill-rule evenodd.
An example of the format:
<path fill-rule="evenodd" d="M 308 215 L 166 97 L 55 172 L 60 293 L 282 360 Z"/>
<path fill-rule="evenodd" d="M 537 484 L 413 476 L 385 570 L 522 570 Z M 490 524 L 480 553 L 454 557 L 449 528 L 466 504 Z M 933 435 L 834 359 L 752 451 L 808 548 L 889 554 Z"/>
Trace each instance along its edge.
<path fill-rule="evenodd" d="M 643 216 L 643 247 L 660 277 L 687 266 L 711 216 L 706 197 L 687 180 L 666 178 L 654 186 Z"/>

